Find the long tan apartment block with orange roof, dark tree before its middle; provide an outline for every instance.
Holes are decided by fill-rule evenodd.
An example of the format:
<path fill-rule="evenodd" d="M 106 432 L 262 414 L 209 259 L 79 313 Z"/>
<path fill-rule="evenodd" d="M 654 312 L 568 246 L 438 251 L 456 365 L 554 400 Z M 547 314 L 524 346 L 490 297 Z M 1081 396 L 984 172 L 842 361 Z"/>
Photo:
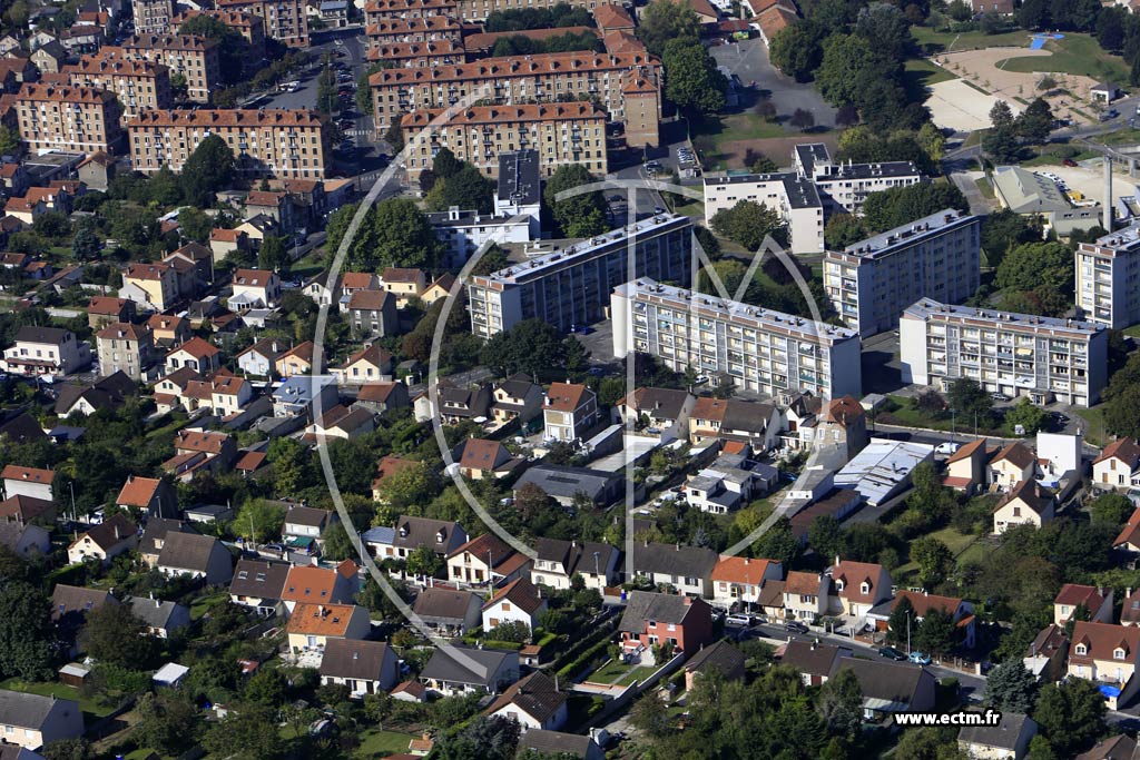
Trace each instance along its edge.
<path fill-rule="evenodd" d="M 182 164 L 206 137 L 226 140 L 237 171 L 246 177 L 323 179 L 328 141 L 316 112 L 284 108 L 148 111 L 131 120 L 131 164 L 149 174 Z"/>

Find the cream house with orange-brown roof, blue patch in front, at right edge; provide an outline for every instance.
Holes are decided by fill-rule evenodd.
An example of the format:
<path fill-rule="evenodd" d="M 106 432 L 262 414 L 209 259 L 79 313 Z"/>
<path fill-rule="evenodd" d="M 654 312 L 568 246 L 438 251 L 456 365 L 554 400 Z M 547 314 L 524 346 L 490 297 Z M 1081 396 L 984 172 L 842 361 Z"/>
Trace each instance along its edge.
<path fill-rule="evenodd" d="M 1097 685 L 1109 710 L 1134 696 L 1140 679 L 1133 678 L 1140 657 L 1140 628 L 1076 621 L 1069 648 L 1068 675 Z"/>

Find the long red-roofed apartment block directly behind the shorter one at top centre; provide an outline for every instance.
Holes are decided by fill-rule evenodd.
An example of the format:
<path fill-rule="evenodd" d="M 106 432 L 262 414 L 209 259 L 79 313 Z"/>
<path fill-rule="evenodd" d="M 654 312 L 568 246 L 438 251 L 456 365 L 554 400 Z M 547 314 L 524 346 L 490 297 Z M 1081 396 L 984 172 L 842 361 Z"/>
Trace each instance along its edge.
<path fill-rule="evenodd" d="M 447 108 L 469 95 L 494 105 L 596 96 L 611 120 L 626 121 L 622 87 L 630 77 L 660 87 L 661 62 L 644 52 L 551 52 L 432 68 L 390 68 L 376 72 L 368 82 L 376 129 L 382 131 L 406 113 Z M 654 120 L 660 116 L 660 112 L 653 114 Z"/>

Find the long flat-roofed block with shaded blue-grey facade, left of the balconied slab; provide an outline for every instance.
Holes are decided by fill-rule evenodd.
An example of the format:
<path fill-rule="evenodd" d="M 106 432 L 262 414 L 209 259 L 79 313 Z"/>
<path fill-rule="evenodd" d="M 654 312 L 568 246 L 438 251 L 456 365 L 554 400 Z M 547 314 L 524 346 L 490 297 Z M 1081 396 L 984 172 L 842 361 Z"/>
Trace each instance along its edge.
<path fill-rule="evenodd" d="M 661 214 L 567 248 L 514 263 L 467 284 L 475 335 L 490 337 L 524 319 L 567 332 L 606 317 L 609 293 L 630 277 L 692 281 L 693 223 Z"/>

